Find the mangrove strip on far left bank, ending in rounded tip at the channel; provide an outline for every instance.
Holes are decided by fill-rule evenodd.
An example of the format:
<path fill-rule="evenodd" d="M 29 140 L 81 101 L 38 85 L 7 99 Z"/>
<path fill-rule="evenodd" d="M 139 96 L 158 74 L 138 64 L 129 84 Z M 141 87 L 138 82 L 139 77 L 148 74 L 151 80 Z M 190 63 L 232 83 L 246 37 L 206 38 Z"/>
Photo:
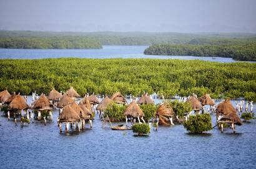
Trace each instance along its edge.
<path fill-rule="evenodd" d="M 3 37 L 0 48 L 100 49 L 99 41 L 88 37 Z"/>

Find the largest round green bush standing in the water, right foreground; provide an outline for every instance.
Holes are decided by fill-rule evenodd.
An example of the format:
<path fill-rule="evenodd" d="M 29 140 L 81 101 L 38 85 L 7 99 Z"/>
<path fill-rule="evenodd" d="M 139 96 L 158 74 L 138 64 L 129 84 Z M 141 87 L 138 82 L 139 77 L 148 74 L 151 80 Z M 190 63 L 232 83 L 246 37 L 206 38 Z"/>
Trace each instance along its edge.
<path fill-rule="evenodd" d="M 212 130 L 212 120 L 209 113 L 190 115 L 184 122 L 184 127 L 190 133 L 203 133 Z"/>

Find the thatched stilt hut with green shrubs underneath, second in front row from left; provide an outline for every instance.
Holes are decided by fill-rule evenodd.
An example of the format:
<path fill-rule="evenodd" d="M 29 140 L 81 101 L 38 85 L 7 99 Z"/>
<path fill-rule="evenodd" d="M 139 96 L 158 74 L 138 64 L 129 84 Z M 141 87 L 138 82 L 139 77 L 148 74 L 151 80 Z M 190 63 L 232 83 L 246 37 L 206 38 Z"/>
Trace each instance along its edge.
<path fill-rule="evenodd" d="M 32 109 L 34 110 L 35 118 L 37 120 L 44 119 L 44 125 L 46 125 L 46 119 L 52 120 L 52 107 L 50 100 L 47 99 L 46 95 L 41 94 L 39 99 L 37 99 L 32 104 Z"/>

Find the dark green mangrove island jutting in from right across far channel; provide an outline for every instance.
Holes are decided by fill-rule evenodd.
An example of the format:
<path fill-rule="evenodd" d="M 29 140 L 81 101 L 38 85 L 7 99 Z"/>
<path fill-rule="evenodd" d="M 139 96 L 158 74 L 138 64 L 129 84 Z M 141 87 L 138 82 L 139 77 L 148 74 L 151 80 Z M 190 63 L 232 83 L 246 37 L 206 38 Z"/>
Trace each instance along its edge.
<path fill-rule="evenodd" d="M 159 44 L 145 49 L 144 54 L 168 56 L 232 57 L 235 60 L 256 61 L 256 43 L 235 45 L 172 45 Z"/>

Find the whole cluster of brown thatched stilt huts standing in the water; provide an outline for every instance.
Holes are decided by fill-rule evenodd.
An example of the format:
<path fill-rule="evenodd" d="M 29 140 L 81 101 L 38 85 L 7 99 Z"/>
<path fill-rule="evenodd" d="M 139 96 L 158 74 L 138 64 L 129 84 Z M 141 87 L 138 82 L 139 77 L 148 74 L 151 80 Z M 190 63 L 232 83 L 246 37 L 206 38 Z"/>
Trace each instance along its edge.
<path fill-rule="evenodd" d="M 83 130 L 86 122 L 89 122 L 92 127 L 92 119 L 94 117 L 94 112 L 96 111 L 99 112 L 99 117 L 102 120 L 110 122 L 108 117 L 105 116 L 102 118 L 107 106 L 112 102 L 117 104 L 127 104 L 126 98 L 120 92 L 116 92 L 110 98 L 107 96 L 104 97 L 101 102 L 94 94 L 86 95 L 83 99 L 79 98 L 80 95 L 77 94 L 76 90 L 72 87 L 67 90 L 65 94 L 61 94 L 60 92 L 57 92 L 57 90 L 52 89 L 48 96 L 41 94 L 31 105 L 27 105 L 26 97 L 23 97 L 20 94 L 16 95 L 14 93 L 11 95 L 7 90 L 0 92 L 1 107 L 6 107 L 6 116 L 8 118 L 13 117 L 15 122 L 17 117 L 21 117 L 21 119 L 42 120 L 46 123 L 47 120 L 52 120 L 52 110 L 59 109 L 57 123 L 60 132 L 62 132 L 62 125 L 65 126 L 66 132 L 69 132 L 71 128 L 72 130 Z M 229 100 L 221 102 L 216 107 L 214 100 L 212 100 L 208 94 L 205 94 L 199 99 L 197 99 L 196 95 L 192 95 L 186 102 L 191 104 L 192 110 L 195 113 L 204 113 L 204 106 L 209 105 L 216 113 L 217 123 L 222 132 L 224 123 L 229 123 L 234 132 L 235 124 L 242 124 Z M 154 100 L 152 100 L 148 94 L 142 95 L 139 100 L 132 100 L 124 111 L 124 115 L 126 116 L 126 127 L 128 126 L 127 123 L 129 121 L 131 125 L 136 122 L 145 123 L 144 112 L 140 109 L 140 104 L 154 104 Z M 191 112 L 188 112 L 187 118 L 189 118 L 190 113 Z M 155 117 L 157 126 L 158 124 L 174 125 L 175 120 L 180 122 L 179 117 L 175 115 L 172 107 L 166 102 L 159 105 L 155 112 Z M 27 120 L 24 120 L 24 122 L 27 122 Z"/>

